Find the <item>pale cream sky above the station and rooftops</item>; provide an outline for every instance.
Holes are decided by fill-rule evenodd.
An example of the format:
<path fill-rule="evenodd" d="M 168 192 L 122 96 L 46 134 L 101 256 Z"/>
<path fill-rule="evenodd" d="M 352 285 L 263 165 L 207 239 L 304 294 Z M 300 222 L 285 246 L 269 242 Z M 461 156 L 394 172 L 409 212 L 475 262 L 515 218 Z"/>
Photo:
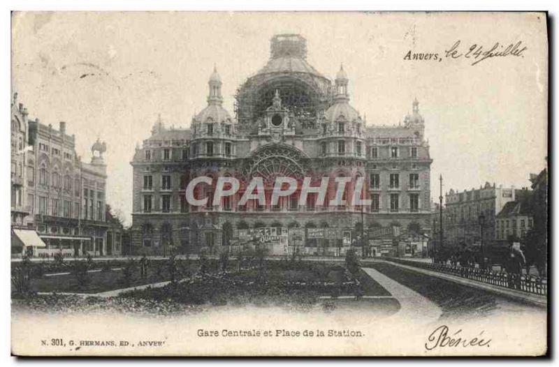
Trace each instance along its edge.
<path fill-rule="evenodd" d="M 233 115 L 235 90 L 266 64 L 277 33 L 304 36 L 307 61 L 326 77 L 343 63 L 350 103 L 368 125 L 398 124 L 419 100 L 434 200 L 440 174 L 444 192 L 486 181 L 521 188 L 546 167 L 547 39 L 538 14 L 14 13 L 11 87 L 31 119 L 66 121 L 83 160 L 98 137 L 107 143 L 107 202 L 130 223 L 130 161 L 158 114 L 188 127 L 216 65 Z M 458 40 L 462 54 L 495 43 L 526 49 L 472 66 L 445 57 Z M 438 57 L 405 60 L 409 51 Z"/>

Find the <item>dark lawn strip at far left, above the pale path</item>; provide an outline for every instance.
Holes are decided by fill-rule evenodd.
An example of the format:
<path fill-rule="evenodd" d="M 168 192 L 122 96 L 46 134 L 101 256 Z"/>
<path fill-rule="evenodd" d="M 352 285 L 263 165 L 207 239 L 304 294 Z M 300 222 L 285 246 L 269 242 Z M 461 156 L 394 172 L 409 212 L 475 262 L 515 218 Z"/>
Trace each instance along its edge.
<path fill-rule="evenodd" d="M 90 272 L 88 276 L 89 283 L 83 286 L 78 285 L 73 274 L 68 274 L 33 279 L 31 287 L 35 292 L 99 293 L 169 280 L 166 271 L 158 275 L 154 269 L 148 269 L 145 278 L 140 278 L 139 271 L 135 271 L 129 283 L 124 280 L 122 270 Z"/>

